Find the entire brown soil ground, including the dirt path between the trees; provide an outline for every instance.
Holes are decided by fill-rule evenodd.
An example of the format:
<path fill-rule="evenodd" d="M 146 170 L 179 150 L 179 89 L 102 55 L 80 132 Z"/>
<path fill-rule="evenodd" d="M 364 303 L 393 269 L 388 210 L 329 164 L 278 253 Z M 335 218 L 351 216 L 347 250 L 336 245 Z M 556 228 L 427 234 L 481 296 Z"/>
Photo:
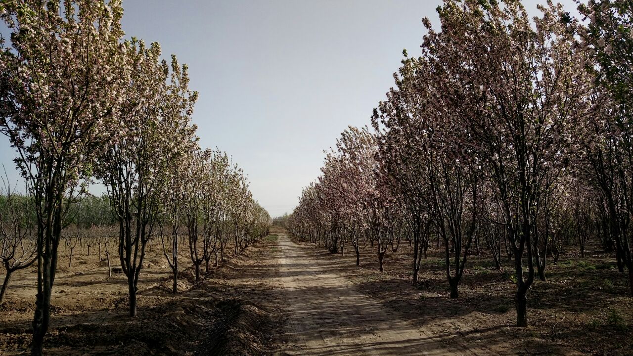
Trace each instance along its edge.
<path fill-rule="evenodd" d="M 277 232 L 200 283 L 181 272 L 176 296 L 153 251 L 137 318 L 127 317 L 124 276 L 108 278 L 93 256 L 78 253 L 70 269 L 61 258 L 47 354 L 633 355 L 632 298 L 608 255 L 570 253 L 549 265 L 549 281 L 529 292 L 532 326 L 520 329 L 512 326 L 511 274 L 492 269 L 485 252 L 470 260 L 460 298 L 450 300 L 439 250 L 413 285 L 407 243 L 387 252 L 381 273 L 369 244 L 357 267 L 349 248 L 332 255 Z M 0 355 L 28 352 L 34 275 L 16 275 L 0 306 Z"/>

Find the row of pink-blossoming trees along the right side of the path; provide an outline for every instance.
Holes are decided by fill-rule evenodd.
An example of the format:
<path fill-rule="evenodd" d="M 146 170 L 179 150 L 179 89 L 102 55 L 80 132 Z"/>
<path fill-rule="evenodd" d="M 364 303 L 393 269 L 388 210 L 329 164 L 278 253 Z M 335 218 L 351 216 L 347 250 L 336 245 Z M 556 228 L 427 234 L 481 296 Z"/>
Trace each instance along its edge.
<path fill-rule="evenodd" d="M 588 238 L 628 270 L 633 216 L 630 1 L 594 1 L 572 18 L 561 5 L 530 18 L 518 0 L 444 1 L 441 31 L 406 51 L 396 86 L 350 127 L 304 189 L 291 232 L 334 252 L 359 238 L 380 262 L 413 241 L 413 279 L 429 237 L 444 242 L 451 298 L 473 241 L 496 264 L 514 259 L 518 326 L 527 291 L 570 241 Z M 479 247 L 478 247 L 479 248 Z"/>

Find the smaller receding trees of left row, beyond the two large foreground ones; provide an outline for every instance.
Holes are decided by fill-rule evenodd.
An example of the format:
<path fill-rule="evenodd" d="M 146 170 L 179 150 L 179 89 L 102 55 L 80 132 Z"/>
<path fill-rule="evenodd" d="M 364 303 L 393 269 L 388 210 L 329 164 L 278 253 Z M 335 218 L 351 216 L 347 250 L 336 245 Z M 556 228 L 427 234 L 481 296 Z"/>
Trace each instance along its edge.
<path fill-rule="evenodd" d="M 179 272 L 179 227 L 186 227 L 185 238 L 196 281 L 201 266 L 210 270 L 210 261 L 224 260 L 229 239 L 234 254 L 268 234 L 270 215 L 254 199 L 242 170 L 232 165 L 221 151 L 197 151 L 190 160 L 177 167 L 169 189 L 168 201 L 156 222 L 160 228 L 163 253 L 173 272 L 173 293 L 177 293 Z M 163 232 L 167 224 L 170 234 Z"/>

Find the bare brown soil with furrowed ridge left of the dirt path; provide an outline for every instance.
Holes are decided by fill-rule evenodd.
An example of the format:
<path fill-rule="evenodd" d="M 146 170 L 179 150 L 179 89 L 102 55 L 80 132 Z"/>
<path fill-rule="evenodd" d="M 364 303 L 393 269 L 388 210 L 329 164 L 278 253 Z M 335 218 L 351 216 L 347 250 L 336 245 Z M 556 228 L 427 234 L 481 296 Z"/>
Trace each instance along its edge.
<path fill-rule="evenodd" d="M 107 262 L 75 249 L 68 267 L 66 251 L 53 286 L 47 355 L 261 355 L 269 352 L 273 317 L 256 302 L 268 291 L 245 298 L 241 277 L 253 263 L 253 251 L 268 250 L 266 241 L 230 258 L 206 278 L 194 282 L 187 269 L 179 274 L 178 295 L 170 293 L 172 274 L 158 246 L 148 253 L 139 281 L 138 316 L 127 315 L 127 279 L 108 277 Z M 233 246 L 227 246 L 231 251 Z M 93 250 L 94 251 L 94 250 Z M 181 248 L 180 264 L 191 264 Z M 96 251 L 95 251 L 96 252 Z M 116 256 L 116 253 L 113 253 Z M 116 257 L 118 259 L 118 257 Z M 189 262 L 188 262 L 189 261 Z M 112 265 L 118 265 L 115 259 Z M 244 272 L 244 273 L 242 273 Z M 0 305 L 0 355 L 28 353 L 34 313 L 34 268 L 16 272 Z M 270 325 L 270 327 L 267 327 Z M 263 329 L 261 329 L 263 327 Z"/>

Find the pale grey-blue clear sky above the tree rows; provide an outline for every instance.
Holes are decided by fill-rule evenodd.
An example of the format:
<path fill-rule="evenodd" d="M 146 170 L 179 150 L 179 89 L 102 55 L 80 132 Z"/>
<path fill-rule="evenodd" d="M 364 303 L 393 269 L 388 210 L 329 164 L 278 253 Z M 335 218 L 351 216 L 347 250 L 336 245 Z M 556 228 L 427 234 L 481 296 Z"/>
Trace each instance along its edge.
<path fill-rule="evenodd" d="M 537 15 L 544 1 L 523 3 Z M 342 130 L 369 124 L 403 49 L 419 53 L 422 18 L 439 28 L 441 3 L 123 0 L 122 26 L 127 37 L 158 41 L 165 58 L 173 53 L 189 65 L 201 146 L 232 155 L 253 197 L 275 217 L 296 207 Z M 0 163 L 16 181 L 13 156 L 0 137 Z"/>

